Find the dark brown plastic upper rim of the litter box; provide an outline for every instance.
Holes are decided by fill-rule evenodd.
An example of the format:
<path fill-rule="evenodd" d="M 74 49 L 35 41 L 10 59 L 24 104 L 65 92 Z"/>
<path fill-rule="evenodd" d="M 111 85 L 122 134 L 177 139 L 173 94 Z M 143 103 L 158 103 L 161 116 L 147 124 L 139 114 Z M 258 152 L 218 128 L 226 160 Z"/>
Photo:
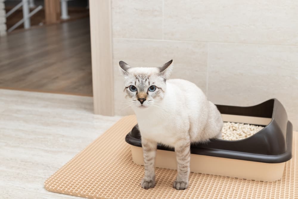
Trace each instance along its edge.
<path fill-rule="evenodd" d="M 191 150 L 190 150 L 191 153 L 198 154 L 198 155 L 207 155 L 207 156 L 240 159 L 240 160 L 247 160 L 247 161 L 253 161 L 253 162 L 264 162 L 264 163 L 281 163 L 281 162 L 286 162 L 290 160 L 292 158 L 293 126 L 291 122 L 288 121 L 284 107 L 277 99 L 270 99 L 256 106 L 247 106 L 247 107 L 225 106 L 225 108 L 233 107 L 234 109 L 239 108 L 240 110 L 243 110 L 243 108 L 247 108 L 247 109 L 250 107 L 255 108 L 263 104 L 267 106 L 266 107 L 267 109 L 270 109 L 269 103 L 274 103 L 274 106 L 272 107 L 273 109 L 272 119 L 271 119 L 271 122 L 264 129 L 242 140 L 235 141 L 235 140 L 211 139 L 210 142 L 208 142 L 207 144 L 192 144 Z M 268 104 L 269 104 L 269 108 L 268 108 Z M 224 107 L 224 105 L 220 105 L 220 106 Z M 281 117 L 277 115 L 276 112 L 279 112 Z M 222 114 L 229 114 L 229 112 L 225 111 Z M 235 114 L 235 110 L 233 110 L 231 114 Z M 237 115 L 245 115 L 245 114 L 238 113 Z M 258 117 L 262 115 L 253 115 L 252 113 L 250 113 L 247 116 Z M 286 129 L 284 130 L 285 132 L 283 132 L 283 128 L 282 128 L 282 126 L 284 126 L 284 123 L 286 123 Z M 133 133 L 133 131 L 138 131 L 136 126 L 131 130 L 131 132 L 129 132 L 126 135 L 125 141 L 130 145 L 142 147 L 141 140 L 135 136 L 137 133 Z M 266 137 L 264 139 L 263 134 L 265 133 L 267 134 L 267 138 L 270 137 L 269 135 L 271 134 L 276 134 L 275 136 L 271 135 L 271 137 L 274 137 L 276 140 L 273 140 L 273 141 L 278 143 L 275 143 L 275 142 L 267 143 L 269 141 L 272 141 L 272 139 L 268 140 L 266 139 Z M 273 152 L 271 151 L 271 154 L 270 154 L 270 151 L 268 152 L 268 150 L 266 150 L 266 147 L 261 148 L 262 146 L 260 145 L 262 143 L 260 142 L 262 141 L 265 144 L 267 144 L 268 147 L 271 147 L 272 150 L 275 150 L 275 151 Z M 244 142 L 245 142 L 245 145 L 248 146 L 248 148 L 241 148 Z M 259 148 L 256 148 L 256 145 Z M 276 146 L 279 146 L 279 148 L 277 148 Z M 158 145 L 157 148 L 160 150 L 174 151 L 173 148 L 169 148 L 164 145 Z M 263 151 L 261 151 L 260 149 L 262 149 Z"/>

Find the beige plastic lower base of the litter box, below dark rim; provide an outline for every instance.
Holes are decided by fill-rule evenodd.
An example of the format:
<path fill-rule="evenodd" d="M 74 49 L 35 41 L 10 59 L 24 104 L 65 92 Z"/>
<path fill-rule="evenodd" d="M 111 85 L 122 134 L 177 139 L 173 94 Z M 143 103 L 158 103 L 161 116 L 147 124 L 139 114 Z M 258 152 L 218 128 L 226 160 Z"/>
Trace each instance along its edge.
<path fill-rule="evenodd" d="M 131 145 L 132 160 L 144 165 L 142 147 Z M 174 151 L 157 150 L 155 166 L 177 169 Z M 190 171 L 259 181 L 276 181 L 283 177 L 285 162 L 270 164 L 213 156 L 190 155 Z"/>

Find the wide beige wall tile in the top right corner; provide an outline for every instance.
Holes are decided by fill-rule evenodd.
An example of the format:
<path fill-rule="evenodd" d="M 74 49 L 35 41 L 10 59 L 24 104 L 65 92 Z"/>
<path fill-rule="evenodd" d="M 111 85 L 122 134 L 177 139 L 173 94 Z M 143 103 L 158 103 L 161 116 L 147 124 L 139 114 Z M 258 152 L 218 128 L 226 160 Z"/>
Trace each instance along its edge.
<path fill-rule="evenodd" d="M 164 0 L 164 38 L 298 44 L 298 1 Z"/>

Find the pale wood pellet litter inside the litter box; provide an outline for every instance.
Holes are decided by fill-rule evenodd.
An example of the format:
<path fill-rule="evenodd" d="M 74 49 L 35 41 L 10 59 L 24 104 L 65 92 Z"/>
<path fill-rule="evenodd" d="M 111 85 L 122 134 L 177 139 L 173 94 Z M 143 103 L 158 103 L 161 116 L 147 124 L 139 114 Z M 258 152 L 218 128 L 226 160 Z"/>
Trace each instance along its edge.
<path fill-rule="evenodd" d="M 243 124 L 234 122 L 224 122 L 221 130 L 223 140 L 242 140 L 257 133 L 263 126 L 253 124 Z"/>

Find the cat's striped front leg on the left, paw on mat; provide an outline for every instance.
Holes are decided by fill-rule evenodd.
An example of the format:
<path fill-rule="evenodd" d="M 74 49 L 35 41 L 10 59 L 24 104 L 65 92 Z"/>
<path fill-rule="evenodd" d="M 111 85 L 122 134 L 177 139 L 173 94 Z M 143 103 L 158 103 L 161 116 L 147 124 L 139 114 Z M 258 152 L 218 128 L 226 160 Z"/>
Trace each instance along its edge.
<path fill-rule="evenodd" d="M 144 189 L 149 189 L 155 186 L 154 161 L 157 143 L 142 138 L 142 148 L 144 156 L 145 177 L 141 181 L 141 186 Z"/>

